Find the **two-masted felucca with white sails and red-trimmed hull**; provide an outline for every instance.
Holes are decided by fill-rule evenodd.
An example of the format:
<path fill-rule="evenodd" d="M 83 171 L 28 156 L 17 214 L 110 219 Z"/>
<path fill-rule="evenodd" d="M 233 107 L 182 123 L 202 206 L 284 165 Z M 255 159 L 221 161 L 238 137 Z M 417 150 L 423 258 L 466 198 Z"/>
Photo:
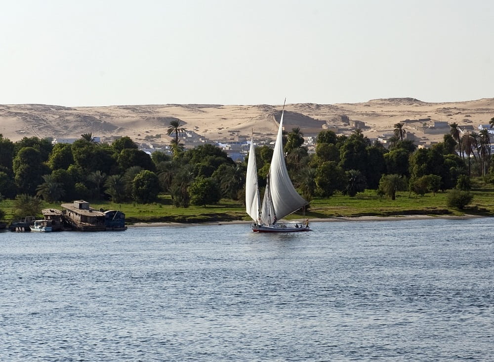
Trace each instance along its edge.
<path fill-rule="evenodd" d="M 297 211 L 308 204 L 295 190 L 288 176 L 285 154 L 283 152 L 283 116 L 285 104 L 281 113 L 280 126 L 276 137 L 273 158 L 268 172 L 266 189 L 261 202 L 257 184 L 257 165 L 255 162 L 254 136 L 250 142 L 249 158 L 247 161 L 246 179 L 246 211 L 254 220 L 252 231 L 259 233 L 293 233 L 309 231 L 309 222 L 279 223 L 278 220 Z"/>

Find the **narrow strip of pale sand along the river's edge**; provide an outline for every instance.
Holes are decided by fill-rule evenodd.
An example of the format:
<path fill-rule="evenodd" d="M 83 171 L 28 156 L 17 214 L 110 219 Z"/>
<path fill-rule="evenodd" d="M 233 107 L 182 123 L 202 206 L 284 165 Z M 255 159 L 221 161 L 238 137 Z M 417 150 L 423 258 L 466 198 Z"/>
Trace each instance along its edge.
<path fill-rule="evenodd" d="M 427 219 L 474 219 L 483 218 L 487 216 L 477 216 L 477 215 L 440 215 L 440 216 L 429 216 L 429 215 L 397 215 L 397 216 L 357 216 L 357 217 L 343 217 L 334 216 L 325 219 L 310 219 L 309 224 L 313 222 L 342 222 L 342 221 L 400 221 L 400 220 L 427 220 Z M 218 221 L 218 222 L 205 222 L 205 223 L 177 223 L 177 222 L 153 222 L 153 223 L 135 223 L 133 225 L 127 225 L 129 228 L 150 228 L 150 227 L 166 227 L 166 226 L 198 226 L 198 225 L 234 225 L 234 224 L 252 224 L 252 221 L 245 220 L 235 220 L 235 221 Z"/>

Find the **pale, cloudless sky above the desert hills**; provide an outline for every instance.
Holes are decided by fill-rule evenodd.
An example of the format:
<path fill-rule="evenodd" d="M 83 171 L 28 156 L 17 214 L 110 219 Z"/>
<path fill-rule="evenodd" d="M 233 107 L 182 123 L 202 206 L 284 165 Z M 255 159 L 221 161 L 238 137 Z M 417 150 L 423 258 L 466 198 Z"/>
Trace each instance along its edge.
<path fill-rule="evenodd" d="M 492 0 L 5 0 L 0 104 L 494 97 Z"/>

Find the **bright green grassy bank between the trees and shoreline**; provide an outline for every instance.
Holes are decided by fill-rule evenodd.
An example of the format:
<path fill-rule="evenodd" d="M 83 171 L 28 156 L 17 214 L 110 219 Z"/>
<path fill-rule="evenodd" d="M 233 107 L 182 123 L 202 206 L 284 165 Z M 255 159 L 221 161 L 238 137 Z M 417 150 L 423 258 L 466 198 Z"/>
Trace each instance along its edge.
<path fill-rule="evenodd" d="M 308 218 L 357 217 L 357 216 L 395 216 L 395 215 L 464 215 L 494 216 L 494 187 L 482 186 L 473 189 L 473 201 L 463 210 L 446 205 L 447 193 L 424 196 L 398 192 L 396 200 L 380 197 L 375 191 L 366 191 L 356 197 L 334 195 L 328 199 L 314 199 L 307 211 Z M 43 207 L 60 208 L 59 203 L 44 203 Z M 217 221 L 249 220 L 241 201 L 222 200 L 216 205 L 190 206 L 177 208 L 172 205 L 169 196 L 161 196 L 159 201 L 149 204 L 119 203 L 109 201 L 91 201 L 91 207 L 119 209 L 125 213 L 128 223 L 136 222 L 179 222 L 200 223 Z M 6 212 L 6 219 L 13 217 L 13 201 L 5 200 L 0 208 Z M 288 219 L 299 219 L 300 213 L 290 215 Z"/>

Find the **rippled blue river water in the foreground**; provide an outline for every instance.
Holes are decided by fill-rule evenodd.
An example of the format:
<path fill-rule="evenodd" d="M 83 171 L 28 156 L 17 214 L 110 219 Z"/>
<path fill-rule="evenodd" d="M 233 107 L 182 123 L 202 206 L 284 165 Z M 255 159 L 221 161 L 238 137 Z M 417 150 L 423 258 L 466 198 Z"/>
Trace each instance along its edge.
<path fill-rule="evenodd" d="M 1 361 L 493 361 L 491 219 L 0 233 Z"/>

